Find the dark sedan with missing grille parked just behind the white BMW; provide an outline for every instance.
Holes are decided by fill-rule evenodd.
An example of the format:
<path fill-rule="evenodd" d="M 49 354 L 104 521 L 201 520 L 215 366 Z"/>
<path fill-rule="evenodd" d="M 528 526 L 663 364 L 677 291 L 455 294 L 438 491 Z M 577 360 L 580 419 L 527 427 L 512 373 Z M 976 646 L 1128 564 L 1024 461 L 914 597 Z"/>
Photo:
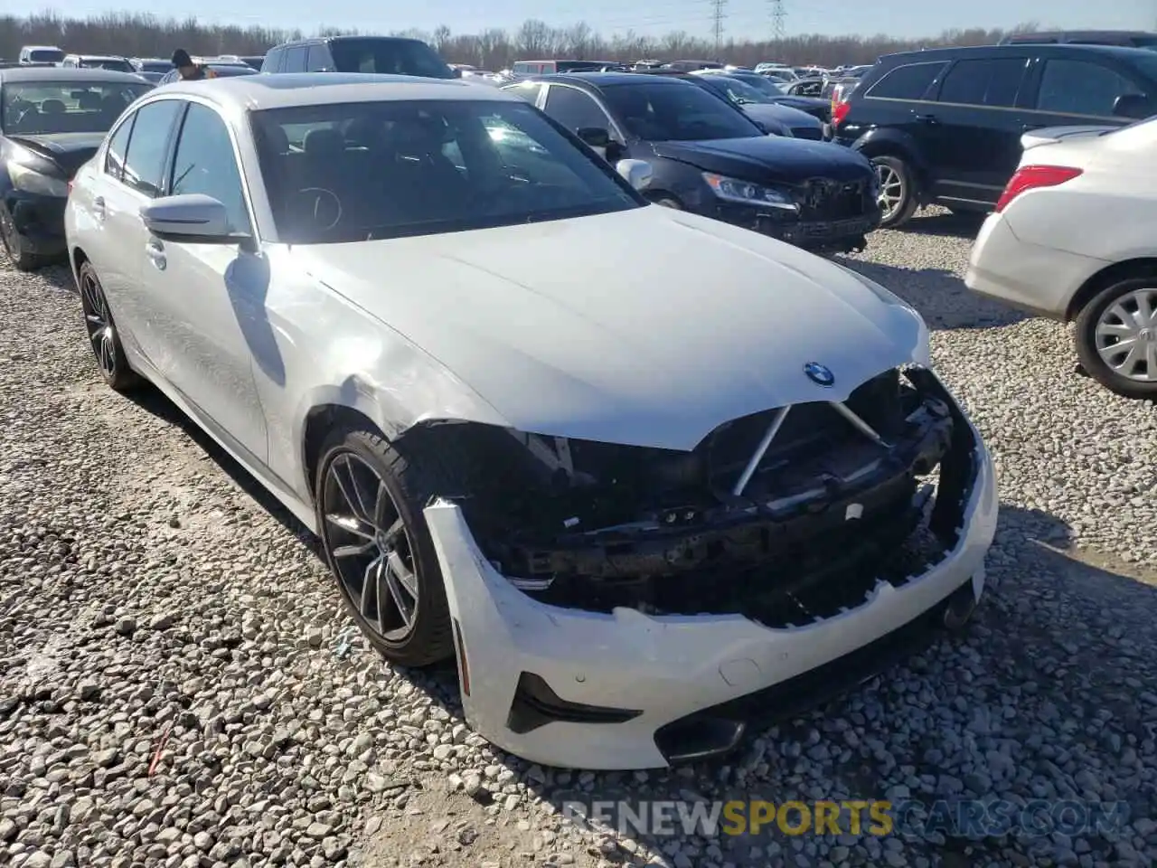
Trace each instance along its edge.
<path fill-rule="evenodd" d="M 767 135 L 699 79 L 568 73 L 506 89 L 611 163 L 648 162 L 646 196 L 658 205 L 828 250 L 862 248 L 879 222 L 867 160 L 838 145 Z"/>

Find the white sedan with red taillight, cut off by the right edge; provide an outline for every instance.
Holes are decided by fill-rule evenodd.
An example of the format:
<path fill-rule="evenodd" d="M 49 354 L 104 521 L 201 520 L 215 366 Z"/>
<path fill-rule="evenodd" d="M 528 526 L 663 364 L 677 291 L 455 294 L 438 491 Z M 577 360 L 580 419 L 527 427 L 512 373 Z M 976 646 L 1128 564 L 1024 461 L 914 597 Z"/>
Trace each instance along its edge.
<path fill-rule="evenodd" d="M 1157 119 L 1030 133 L 972 249 L 967 286 L 1076 322 L 1082 367 L 1157 398 Z"/>

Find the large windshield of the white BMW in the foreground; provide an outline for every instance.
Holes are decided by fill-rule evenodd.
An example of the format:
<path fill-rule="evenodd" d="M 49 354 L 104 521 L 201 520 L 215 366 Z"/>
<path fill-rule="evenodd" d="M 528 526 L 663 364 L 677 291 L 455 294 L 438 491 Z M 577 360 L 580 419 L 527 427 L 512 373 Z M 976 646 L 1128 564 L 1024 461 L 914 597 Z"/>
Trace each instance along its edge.
<path fill-rule="evenodd" d="M 282 241 L 368 241 L 641 207 L 523 102 L 390 101 L 251 115 Z"/>

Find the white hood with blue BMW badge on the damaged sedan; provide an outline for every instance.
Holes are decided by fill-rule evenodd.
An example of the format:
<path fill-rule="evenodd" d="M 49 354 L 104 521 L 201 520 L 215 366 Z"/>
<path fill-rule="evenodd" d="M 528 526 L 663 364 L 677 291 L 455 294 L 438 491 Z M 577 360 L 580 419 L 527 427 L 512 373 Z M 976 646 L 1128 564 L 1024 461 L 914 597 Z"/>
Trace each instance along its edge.
<path fill-rule="evenodd" d="M 927 331 L 850 272 L 659 206 L 351 244 L 303 271 L 439 360 L 521 431 L 692 449 L 720 424 L 838 400 Z M 833 388 L 812 383 L 826 365 Z M 370 372 L 389 388 L 390 372 Z M 412 384 L 411 384 L 412 385 Z"/>

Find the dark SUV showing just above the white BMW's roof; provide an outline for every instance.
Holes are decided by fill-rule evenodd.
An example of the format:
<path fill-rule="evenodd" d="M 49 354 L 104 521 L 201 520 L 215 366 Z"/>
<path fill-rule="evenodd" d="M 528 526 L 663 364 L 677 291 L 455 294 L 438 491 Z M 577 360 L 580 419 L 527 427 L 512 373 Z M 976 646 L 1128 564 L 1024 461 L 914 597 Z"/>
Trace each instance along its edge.
<path fill-rule="evenodd" d="M 342 72 L 460 79 L 421 39 L 398 36 L 327 36 L 297 39 L 270 49 L 263 73 Z"/>

